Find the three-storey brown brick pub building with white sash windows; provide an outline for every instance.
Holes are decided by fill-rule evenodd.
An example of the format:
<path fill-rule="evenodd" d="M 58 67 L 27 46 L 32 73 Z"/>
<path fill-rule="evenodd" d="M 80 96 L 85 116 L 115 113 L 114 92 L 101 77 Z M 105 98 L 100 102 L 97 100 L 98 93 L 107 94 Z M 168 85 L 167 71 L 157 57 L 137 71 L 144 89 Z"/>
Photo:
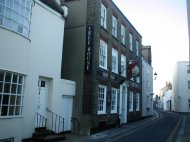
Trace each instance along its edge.
<path fill-rule="evenodd" d="M 62 77 L 77 82 L 73 117 L 80 134 L 140 119 L 141 35 L 112 0 L 66 4 Z M 133 61 L 140 70 L 129 77 Z"/>

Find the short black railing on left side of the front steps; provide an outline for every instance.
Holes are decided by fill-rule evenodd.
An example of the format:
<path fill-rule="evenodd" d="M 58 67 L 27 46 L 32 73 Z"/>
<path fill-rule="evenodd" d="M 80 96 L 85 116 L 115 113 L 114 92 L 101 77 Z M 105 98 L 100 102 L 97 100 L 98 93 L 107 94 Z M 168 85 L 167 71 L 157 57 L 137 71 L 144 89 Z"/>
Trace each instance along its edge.
<path fill-rule="evenodd" d="M 46 128 L 47 119 L 36 112 L 36 128 Z"/>

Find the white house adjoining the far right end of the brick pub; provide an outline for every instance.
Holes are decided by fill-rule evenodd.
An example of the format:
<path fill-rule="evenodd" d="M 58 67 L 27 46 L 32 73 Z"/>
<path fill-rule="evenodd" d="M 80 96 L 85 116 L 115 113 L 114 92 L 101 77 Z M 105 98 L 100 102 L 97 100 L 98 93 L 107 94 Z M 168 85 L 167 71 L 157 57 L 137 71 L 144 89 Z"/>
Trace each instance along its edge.
<path fill-rule="evenodd" d="M 142 58 L 142 117 L 153 115 L 153 68 Z"/>

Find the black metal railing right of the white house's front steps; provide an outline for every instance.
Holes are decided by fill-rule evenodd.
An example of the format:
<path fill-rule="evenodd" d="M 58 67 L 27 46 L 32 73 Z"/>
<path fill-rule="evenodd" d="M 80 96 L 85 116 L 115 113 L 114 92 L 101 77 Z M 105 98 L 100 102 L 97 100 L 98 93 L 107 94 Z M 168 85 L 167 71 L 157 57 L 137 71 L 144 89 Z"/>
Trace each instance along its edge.
<path fill-rule="evenodd" d="M 47 112 L 50 113 L 50 117 L 51 117 L 51 127 L 50 127 L 51 130 L 54 131 L 55 133 L 63 133 L 64 132 L 64 118 L 52 112 L 49 109 L 47 109 Z"/>

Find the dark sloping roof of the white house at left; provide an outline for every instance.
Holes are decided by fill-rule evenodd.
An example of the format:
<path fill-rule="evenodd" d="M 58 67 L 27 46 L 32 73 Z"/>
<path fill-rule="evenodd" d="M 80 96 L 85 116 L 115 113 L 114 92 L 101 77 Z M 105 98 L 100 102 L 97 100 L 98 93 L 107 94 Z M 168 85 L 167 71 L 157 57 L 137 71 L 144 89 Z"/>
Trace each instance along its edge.
<path fill-rule="evenodd" d="M 64 15 L 64 10 L 61 6 L 56 2 L 56 0 L 40 0 L 44 4 L 48 5 L 53 10 L 59 12 L 60 14 Z"/>

